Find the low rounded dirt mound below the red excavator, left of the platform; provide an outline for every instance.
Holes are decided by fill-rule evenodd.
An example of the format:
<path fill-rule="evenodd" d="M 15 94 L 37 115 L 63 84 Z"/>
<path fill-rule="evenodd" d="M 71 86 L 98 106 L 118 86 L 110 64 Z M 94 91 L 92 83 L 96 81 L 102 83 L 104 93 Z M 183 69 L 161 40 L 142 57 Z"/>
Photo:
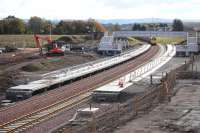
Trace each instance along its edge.
<path fill-rule="evenodd" d="M 44 67 L 45 66 L 41 63 L 31 63 L 26 66 L 23 66 L 21 70 L 26 72 L 36 72 L 42 70 Z"/>

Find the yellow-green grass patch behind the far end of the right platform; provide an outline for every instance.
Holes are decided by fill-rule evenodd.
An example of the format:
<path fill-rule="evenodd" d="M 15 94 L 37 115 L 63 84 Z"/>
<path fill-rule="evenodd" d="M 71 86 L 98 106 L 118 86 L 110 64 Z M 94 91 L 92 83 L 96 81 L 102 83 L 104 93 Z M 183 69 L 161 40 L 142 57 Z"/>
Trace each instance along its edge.
<path fill-rule="evenodd" d="M 159 44 L 179 44 L 186 40 L 181 37 L 156 37 L 156 42 Z"/>

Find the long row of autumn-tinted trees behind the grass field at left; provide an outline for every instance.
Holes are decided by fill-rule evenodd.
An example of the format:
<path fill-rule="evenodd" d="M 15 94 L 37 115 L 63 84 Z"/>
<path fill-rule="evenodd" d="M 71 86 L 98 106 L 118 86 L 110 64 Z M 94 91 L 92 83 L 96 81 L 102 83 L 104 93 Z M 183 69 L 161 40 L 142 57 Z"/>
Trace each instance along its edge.
<path fill-rule="evenodd" d="M 98 32 L 94 20 L 61 20 L 52 23 L 40 17 L 31 17 L 27 22 L 15 16 L 0 20 L 0 34 L 87 34 Z"/>

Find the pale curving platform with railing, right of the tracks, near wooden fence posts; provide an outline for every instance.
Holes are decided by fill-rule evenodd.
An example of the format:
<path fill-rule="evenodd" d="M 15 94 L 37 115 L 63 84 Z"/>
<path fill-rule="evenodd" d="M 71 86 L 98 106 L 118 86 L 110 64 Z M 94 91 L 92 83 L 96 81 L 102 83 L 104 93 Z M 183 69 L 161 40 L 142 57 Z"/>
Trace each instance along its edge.
<path fill-rule="evenodd" d="M 146 89 L 151 88 L 151 80 L 154 80 L 154 83 L 156 80 L 158 83 L 160 82 L 161 77 L 164 76 L 163 73 L 150 75 L 154 74 L 159 68 L 164 67 L 175 54 L 175 47 L 167 46 L 166 52 L 161 52 L 161 54 L 158 54 L 154 59 L 136 70 L 94 90 L 92 93 L 93 100 L 97 102 L 120 102 L 134 95 L 142 94 Z M 121 83 L 123 84 L 121 85 Z"/>

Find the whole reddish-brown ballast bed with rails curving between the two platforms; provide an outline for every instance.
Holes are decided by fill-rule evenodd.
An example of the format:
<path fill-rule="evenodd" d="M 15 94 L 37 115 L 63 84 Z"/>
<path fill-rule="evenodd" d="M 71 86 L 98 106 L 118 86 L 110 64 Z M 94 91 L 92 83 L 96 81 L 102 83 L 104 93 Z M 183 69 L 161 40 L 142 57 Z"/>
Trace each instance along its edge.
<path fill-rule="evenodd" d="M 87 101 L 90 99 L 90 90 L 106 84 L 148 61 L 158 52 L 158 49 L 158 46 L 153 46 L 145 54 L 120 66 L 63 86 L 45 95 L 35 96 L 27 101 L 0 111 L 0 122 L 2 123 L 0 133 L 23 131 L 30 126 L 50 119 L 62 110 L 70 109 Z M 21 108 L 19 108 L 20 106 Z M 35 109 L 35 107 L 37 108 Z M 20 112 L 21 115 L 19 115 Z M 12 117 L 12 114 L 17 114 L 18 117 Z"/>

